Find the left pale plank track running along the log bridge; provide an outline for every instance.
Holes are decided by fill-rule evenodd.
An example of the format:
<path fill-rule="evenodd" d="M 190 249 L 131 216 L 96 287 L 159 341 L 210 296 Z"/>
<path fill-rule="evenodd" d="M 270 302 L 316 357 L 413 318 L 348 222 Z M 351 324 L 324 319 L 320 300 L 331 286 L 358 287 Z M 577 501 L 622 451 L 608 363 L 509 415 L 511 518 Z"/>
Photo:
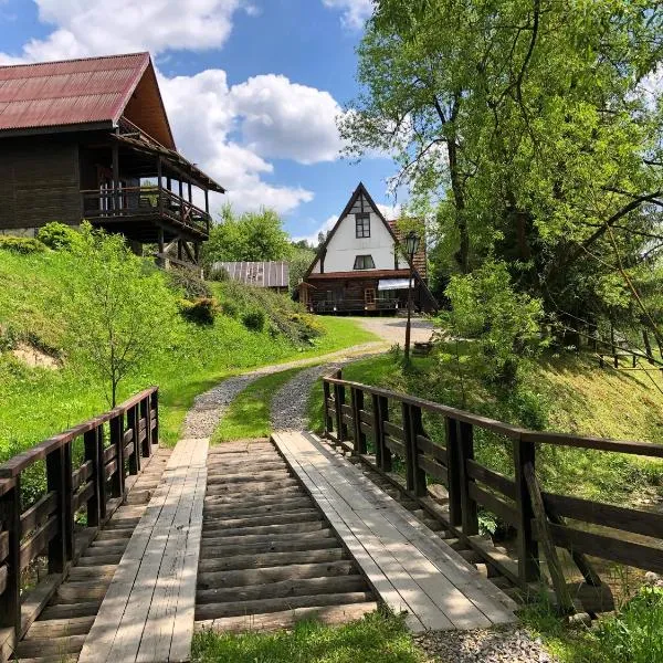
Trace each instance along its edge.
<path fill-rule="evenodd" d="M 188 661 L 208 440 L 181 440 L 134 530 L 80 663 Z"/>

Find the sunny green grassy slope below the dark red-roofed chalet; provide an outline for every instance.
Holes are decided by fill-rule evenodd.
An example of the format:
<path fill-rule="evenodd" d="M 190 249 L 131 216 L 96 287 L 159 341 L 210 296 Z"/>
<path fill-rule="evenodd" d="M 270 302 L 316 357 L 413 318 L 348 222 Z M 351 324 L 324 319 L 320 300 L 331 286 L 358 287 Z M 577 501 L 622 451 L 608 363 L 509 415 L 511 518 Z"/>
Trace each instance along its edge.
<path fill-rule="evenodd" d="M 108 408 L 107 386 L 64 350 L 69 320 L 62 301 L 82 286 L 77 260 L 67 251 L 0 249 L 0 460 Z M 137 261 L 137 269 L 155 272 L 148 260 Z M 285 296 L 228 282 L 202 286 L 220 313 L 213 324 L 198 325 L 177 313 L 191 283 L 156 273 L 167 286 L 164 308 L 173 312 L 166 320 L 169 345 L 128 377 L 118 396 L 159 385 L 161 432 L 169 443 L 194 396 L 224 377 L 375 340 L 349 320 L 312 318 Z M 264 325 L 252 330 L 245 318 L 256 311 Z"/>

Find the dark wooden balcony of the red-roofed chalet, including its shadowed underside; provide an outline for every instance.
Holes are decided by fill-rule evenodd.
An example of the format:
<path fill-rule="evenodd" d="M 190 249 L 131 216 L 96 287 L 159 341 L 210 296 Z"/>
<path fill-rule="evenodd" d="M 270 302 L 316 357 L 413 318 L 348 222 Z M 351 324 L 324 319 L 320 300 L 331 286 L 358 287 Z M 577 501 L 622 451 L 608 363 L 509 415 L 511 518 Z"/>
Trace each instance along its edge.
<path fill-rule="evenodd" d="M 209 238 L 210 214 L 167 188 L 104 187 L 81 193 L 84 219 L 109 231 L 122 231 L 130 239 L 135 235 L 138 240 L 156 241 L 157 227 L 165 229 L 167 235 L 170 230 L 173 234 L 183 232 L 194 240 Z"/>

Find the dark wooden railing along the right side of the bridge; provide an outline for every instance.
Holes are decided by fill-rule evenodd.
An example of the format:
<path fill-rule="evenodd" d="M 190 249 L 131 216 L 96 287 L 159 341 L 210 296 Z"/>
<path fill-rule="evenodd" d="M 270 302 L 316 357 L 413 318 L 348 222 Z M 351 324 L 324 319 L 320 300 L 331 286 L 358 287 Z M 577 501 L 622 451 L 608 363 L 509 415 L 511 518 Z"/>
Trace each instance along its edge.
<path fill-rule="evenodd" d="M 541 491 L 536 469 L 537 451 L 543 445 L 655 459 L 663 459 L 663 445 L 529 431 L 349 382 L 341 379 L 340 371 L 324 378 L 323 385 L 325 434 L 394 484 L 401 484 L 392 472 L 398 459 L 406 475 L 404 485 L 399 487 L 526 593 L 539 590 L 539 547 L 560 606 L 567 611 L 571 610 L 571 599 L 556 547 L 569 550 L 585 582 L 592 587 L 600 587 L 601 579 L 585 555 L 663 572 L 663 514 Z M 441 419 L 444 440 L 433 440 L 427 433 L 424 417 Z M 511 476 L 477 462 L 477 431 L 488 431 L 494 443 L 508 449 Z M 430 483 L 446 487 L 448 505 L 442 507 L 429 495 Z M 497 554 L 478 536 L 480 507 L 515 528 L 517 561 Z M 600 532 L 590 530 L 592 527 Z"/>

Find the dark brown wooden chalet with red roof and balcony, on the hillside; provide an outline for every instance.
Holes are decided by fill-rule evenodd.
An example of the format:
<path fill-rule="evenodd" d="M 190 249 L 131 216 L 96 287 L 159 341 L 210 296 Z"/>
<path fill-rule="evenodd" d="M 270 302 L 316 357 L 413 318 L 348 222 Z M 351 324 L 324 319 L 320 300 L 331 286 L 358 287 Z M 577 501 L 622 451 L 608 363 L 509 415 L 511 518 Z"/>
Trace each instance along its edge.
<path fill-rule="evenodd" d="M 197 263 L 209 191 L 224 189 L 177 151 L 149 53 L 0 67 L 0 233 L 87 219 Z"/>

